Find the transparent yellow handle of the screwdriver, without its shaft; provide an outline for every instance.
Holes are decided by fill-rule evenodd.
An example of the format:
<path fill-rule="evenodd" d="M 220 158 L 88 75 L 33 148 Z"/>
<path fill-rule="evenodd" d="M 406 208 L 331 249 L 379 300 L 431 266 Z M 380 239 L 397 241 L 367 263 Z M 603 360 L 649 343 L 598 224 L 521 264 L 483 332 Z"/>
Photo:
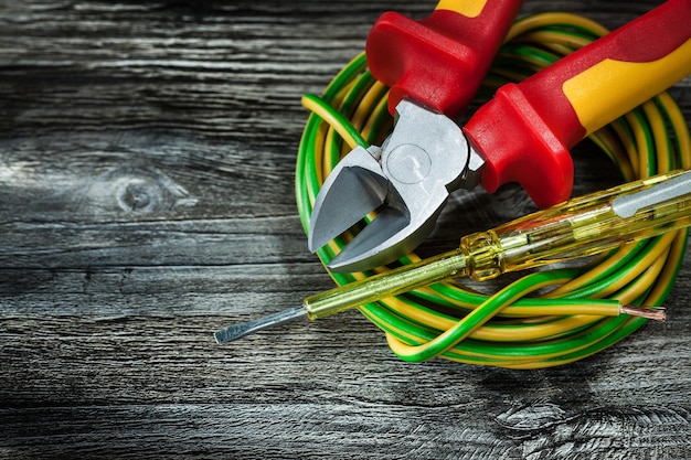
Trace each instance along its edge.
<path fill-rule="evenodd" d="M 614 249 L 691 225 L 691 172 L 676 171 L 571 200 L 461 239 L 477 280 Z"/>

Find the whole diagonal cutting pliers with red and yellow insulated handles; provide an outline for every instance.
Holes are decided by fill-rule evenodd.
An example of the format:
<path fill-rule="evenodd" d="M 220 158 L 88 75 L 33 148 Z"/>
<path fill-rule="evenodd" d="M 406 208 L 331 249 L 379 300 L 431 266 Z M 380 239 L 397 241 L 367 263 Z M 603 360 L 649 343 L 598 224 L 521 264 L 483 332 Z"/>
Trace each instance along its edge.
<path fill-rule="evenodd" d="M 368 38 L 368 64 L 392 87 L 390 108 L 395 109 L 396 124 L 381 147 L 355 148 L 347 154 L 319 192 L 310 221 L 310 250 L 378 210 L 374 221 L 331 260 L 333 270 L 362 270 L 405 255 L 426 237 L 457 189 L 482 184 L 491 193 L 518 182 L 541 207 L 566 200 L 573 184 L 568 150 L 691 73 L 691 0 L 669 0 L 528 79 L 502 86 L 461 128 L 453 119 L 472 98 L 477 90 L 472 85 L 479 85 L 520 2 L 458 1 L 453 11 L 445 9 L 447 3 L 451 2 L 440 1 L 430 18 L 444 12 L 446 19 L 475 20 L 487 36 L 481 32 L 469 36 L 489 43 L 481 47 L 464 36 L 463 44 L 481 50 L 480 64 L 466 69 L 471 74 L 467 86 L 453 78 L 463 66 L 435 79 L 439 74 L 435 63 L 442 63 L 440 68 L 450 64 L 425 50 L 453 42 L 437 36 L 453 30 L 438 31 L 434 24 L 444 22 L 440 17 L 430 21 L 434 26 L 419 29 L 419 23 L 386 13 Z M 488 19 L 490 11 L 501 12 L 500 19 Z M 401 33 L 407 36 L 401 32 L 406 28 L 423 36 L 436 33 L 437 39 L 417 40 L 419 33 L 413 33 L 419 50 L 411 51 L 415 47 L 406 44 L 413 40 L 400 39 Z M 459 88 L 471 94 L 454 97 Z"/>

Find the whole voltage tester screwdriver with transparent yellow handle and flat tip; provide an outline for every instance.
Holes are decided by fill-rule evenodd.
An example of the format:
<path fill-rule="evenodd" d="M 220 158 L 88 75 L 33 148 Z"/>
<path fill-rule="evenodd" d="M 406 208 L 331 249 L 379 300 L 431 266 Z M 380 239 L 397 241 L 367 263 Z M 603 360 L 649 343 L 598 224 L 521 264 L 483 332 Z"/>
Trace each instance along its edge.
<path fill-rule="evenodd" d="M 486 280 L 571 260 L 691 225 L 691 171 L 676 171 L 571 200 L 461 238 L 457 249 L 305 299 L 295 307 L 215 333 L 225 343 L 297 319 L 323 318 L 453 277 Z M 621 306 L 663 320 L 665 311 Z"/>

